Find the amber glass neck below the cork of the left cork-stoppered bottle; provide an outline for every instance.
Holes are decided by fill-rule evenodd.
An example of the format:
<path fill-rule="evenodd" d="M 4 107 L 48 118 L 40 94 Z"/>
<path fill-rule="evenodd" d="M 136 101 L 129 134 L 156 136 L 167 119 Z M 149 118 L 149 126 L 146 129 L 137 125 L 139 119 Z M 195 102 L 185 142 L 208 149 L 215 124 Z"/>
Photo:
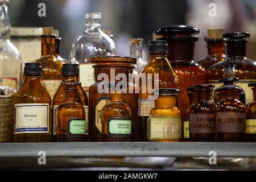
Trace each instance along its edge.
<path fill-rule="evenodd" d="M 55 36 L 42 35 L 42 57 L 55 57 Z"/>

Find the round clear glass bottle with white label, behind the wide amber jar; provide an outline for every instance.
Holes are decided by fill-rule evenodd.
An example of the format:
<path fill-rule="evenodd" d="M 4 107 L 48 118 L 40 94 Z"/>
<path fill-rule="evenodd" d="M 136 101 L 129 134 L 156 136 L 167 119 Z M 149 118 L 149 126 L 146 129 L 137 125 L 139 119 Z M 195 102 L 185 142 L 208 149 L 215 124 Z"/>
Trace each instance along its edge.
<path fill-rule="evenodd" d="M 101 31 L 101 13 L 87 13 L 85 15 L 85 31 L 77 36 L 72 44 L 71 63 L 79 64 L 80 82 L 89 93 L 89 86 L 94 84 L 94 69 L 90 58 L 95 56 L 114 56 L 115 44 L 113 40 Z"/>

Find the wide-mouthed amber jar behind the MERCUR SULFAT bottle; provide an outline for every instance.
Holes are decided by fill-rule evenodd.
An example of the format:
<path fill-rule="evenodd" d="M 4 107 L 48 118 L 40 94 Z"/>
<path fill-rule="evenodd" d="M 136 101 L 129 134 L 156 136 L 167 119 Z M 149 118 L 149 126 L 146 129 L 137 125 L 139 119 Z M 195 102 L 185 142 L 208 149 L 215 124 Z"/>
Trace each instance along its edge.
<path fill-rule="evenodd" d="M 94 65 L 94 76 L 96 83 L 89 88 L 89 137 L 92 142 L 100 142 L 102 137 L 102 118 L 101 111 L 102 108 L 109 104 L 110 94 L 104 92 L 104 90 L 99 90 L 105 83 L 109 84 L 110 80 L 112 82 L 119 81 L 116 76 L 119 74 L 129 78 L 129 74 L 133 73 L 133 64 L 136 63 L 136 59 L 133 57 L 92 57 L 90 62 Z M 126 79 L 125 78 L 125 79 Z M 125 81 L 125 80 L 122 80 Z M 101 85 L 100 85 L 101 84 Z M 135 94 L 135 86 L 132 82 L 127 81 L 127 93 L 123 93 L 123 102 L 131 107 L 133 111 L 131 113 L 131 120 L 135 125 L 132 125 L 132 138 L 133 141 L 141 140 L 141 125 L 138 122 L 138 106 L 137 100 L 138 96 Z"/>

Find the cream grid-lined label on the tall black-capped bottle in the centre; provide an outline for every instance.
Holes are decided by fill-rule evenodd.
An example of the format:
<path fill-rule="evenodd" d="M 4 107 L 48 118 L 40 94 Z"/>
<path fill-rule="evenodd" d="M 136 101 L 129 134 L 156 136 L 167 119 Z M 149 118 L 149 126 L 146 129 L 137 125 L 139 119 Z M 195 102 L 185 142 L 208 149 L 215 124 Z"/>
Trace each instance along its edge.
<path fill-rule="evenodd" d="M 138 116 L 150 116 L 150 110 L 155 107 L 154 99 L 138 100 Z"/>

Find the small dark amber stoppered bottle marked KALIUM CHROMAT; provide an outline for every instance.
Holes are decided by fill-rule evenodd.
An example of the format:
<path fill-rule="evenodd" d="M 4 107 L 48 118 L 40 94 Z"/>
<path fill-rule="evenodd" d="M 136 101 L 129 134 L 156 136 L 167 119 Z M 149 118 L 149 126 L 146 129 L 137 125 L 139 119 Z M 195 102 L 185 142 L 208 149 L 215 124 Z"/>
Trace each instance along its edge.
<path fill-rule="evenodd" d="M 195 85 L 198 100 L 189 106 L 189 140 L 191 142 L 214 142 L 215 104 L 210 101 L 214 85 Z"/>

